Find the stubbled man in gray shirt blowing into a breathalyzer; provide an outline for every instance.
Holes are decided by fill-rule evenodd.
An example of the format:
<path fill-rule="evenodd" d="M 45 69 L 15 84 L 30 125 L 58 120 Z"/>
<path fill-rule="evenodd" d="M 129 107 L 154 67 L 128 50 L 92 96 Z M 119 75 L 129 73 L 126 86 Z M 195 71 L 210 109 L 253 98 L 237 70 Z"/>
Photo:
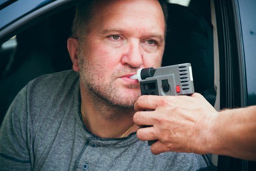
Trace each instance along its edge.
<path fill-rule="evenodd" d="M 129 77 L 160 67 L 164 37 L 156 0 L 79 4 L 68 39 L 75 72 L 41 76 L 17 95 L 0 133 L 3 169 L 206 169 L 201 155 L 152 155 L 135 134 L 140 89 Z"/>

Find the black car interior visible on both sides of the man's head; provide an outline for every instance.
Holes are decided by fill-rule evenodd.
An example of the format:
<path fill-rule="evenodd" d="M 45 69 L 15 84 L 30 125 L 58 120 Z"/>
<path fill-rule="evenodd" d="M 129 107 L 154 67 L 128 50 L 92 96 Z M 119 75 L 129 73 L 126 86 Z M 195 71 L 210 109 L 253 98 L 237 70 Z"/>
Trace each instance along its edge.
<path fill-rule="evenodd" d="M 167 3 L 168 20 L 162 66 L 191 63 L 195 92 L 215 104 L 214 43 L 210 1 L 188 6 Z M 16 34 L 15 46 L 0 49 L 0 123 L 16 94 L 32 79 L 72 69 L 67 51 L 74 7 L 58 12 Z"/>

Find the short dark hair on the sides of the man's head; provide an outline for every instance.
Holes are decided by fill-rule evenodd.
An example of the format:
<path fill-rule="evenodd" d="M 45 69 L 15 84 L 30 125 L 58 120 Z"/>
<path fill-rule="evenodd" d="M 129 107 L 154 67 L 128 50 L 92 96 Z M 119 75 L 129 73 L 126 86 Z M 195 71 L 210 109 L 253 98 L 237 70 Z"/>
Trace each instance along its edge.
<path fill-rule="evenodd" d="M 107 0 L 108 1 L 108 0 Z M 161 5 L 163 14 L 164 14 L 164 22 L 165 22 L 165 35 L 167 30 L 166 20 L 168 18 L 168 11 L 166 6 L 166 0 L 158 0 Z M 78 38 L 78 40 L 82 41 L 84 36 L 86 35 L 86 28 L 90 20 L 93 18 L 93 5 L 95 1 L 80 1 L 76 5 L 75 17 L 73 20 L 72 26 L 72 35 L 71 37 Z"/>

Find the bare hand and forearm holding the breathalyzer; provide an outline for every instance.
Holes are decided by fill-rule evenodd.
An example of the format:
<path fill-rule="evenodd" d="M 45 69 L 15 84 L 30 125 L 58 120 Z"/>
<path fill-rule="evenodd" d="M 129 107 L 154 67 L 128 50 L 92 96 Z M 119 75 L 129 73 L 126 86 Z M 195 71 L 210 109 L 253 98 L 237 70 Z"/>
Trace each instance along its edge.
<path fill-rule="evenodd" d="M 141 111 L 134 115 L 136 124 L 154 125 L 137 131 L 141 140 L 159 139 L 151 146 L 154 154 L 217 154 L 256 161 L 255 105 L 217 112 L 195 93 L 191 97 L 141 96 L 135 109 Z"/>

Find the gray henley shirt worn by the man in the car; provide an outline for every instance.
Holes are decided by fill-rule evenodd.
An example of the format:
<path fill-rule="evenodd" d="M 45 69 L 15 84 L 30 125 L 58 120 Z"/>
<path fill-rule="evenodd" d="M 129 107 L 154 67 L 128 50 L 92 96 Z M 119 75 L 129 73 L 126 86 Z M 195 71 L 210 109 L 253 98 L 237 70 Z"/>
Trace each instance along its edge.
<path fill-rule="evenodd" d="M 0 170 L 206 170 L 201 155 L 153 155 L 135 133 L 99 138 L 80 113 L 79 74 L 64 71 L 30 81 L 0 129 Z"/>

